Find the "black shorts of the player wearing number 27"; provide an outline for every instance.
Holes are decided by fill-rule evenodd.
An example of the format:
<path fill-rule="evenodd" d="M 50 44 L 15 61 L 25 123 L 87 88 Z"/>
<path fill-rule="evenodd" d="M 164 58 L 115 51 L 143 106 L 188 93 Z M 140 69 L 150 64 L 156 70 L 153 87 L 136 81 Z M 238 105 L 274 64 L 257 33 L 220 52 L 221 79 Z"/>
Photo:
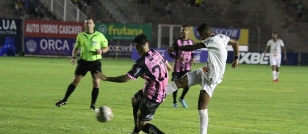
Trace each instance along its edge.
<path fill-rule="evenodd" d="M 142 90 L 139 90 L 134 96 L 139 104 L 138 119 L 140 121 L 151 121 L 160 103 L 144 96 Z"/>

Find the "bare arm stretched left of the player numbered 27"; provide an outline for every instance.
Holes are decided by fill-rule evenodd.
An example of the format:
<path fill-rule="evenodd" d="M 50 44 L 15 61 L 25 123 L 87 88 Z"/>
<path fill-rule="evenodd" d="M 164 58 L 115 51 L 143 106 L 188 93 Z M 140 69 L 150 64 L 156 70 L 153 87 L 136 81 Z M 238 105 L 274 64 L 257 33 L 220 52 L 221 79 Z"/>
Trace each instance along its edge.
<path fill-rule="evenodd" d="M 128 82 L 131 78 L 128 77 L 128 75 L 121 75 L 117 77 L 107 77 L 103 73 L 96 71 L 94 74 L 95 78 L 102 79 L 103 81 L 110 81 L 110 82 Z"/>

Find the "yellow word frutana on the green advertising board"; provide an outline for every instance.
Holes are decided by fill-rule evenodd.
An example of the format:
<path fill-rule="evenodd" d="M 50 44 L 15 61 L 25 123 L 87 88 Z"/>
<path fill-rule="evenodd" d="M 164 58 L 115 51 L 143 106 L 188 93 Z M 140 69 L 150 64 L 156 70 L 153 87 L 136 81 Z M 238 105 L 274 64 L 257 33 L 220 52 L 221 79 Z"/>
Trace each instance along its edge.
<path fill-rule="evenodd" d="M 115 28 L 114 25 L 109 25 L 108 27 L 109 35 L 127 35 L 127 36 L 137 36 L 143 33 L 142 29 L 130 29 L 126 26 Z"/>

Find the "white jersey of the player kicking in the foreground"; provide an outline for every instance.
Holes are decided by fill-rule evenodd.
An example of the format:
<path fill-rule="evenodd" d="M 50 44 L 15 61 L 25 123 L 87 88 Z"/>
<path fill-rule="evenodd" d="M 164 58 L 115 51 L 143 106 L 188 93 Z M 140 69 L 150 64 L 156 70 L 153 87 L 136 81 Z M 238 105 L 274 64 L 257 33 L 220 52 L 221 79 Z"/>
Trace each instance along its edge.
<path fill-rule="evenodd" d="M 209 72 L 208 84 L 218 84 L 222 81 L 227 62 L 227 44 L 229 41 L 230 37 L 223 34 L 218 34 L 202 41 L 205 47 L 208 48 L 208 59 L 204 67 L 204 71 Z"/>

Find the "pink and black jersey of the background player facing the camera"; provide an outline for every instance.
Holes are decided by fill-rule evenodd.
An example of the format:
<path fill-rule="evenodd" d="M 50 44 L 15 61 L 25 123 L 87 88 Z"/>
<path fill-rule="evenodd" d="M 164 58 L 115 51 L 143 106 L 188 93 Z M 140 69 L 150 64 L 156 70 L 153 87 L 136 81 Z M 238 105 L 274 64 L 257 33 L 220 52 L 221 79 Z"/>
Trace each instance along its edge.
<path fill-rule="evenodd" d="M 174 40 L 172 46 L 185 46 L 185 45 L 192 45 L 193 40 L 183 40 L 181 37 Z M 191 59 L 194 57 L 194 53 L 192 52 L 184 52 L 184 51 L 176 51 L 172 52 L 169 55 L 173 58 L 173 69 L 172 72 L 183 72 L 183 71 L 190 71 L 191 68 Z M 178 57 L 183 57 L 185 60 L 181 62 Z"/>

